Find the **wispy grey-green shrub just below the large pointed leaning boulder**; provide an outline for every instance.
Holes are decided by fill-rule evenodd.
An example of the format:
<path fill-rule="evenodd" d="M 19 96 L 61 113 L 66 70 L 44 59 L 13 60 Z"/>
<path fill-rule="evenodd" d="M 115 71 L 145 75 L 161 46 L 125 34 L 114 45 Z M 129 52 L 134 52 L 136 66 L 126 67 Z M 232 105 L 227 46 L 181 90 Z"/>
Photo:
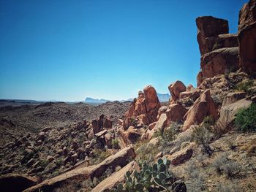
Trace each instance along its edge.
<path fill-rule="evenodd" d="M 205 126 L 195 126 L 192 132 L 192 140 L 195 141 L 198 145 L 203 147 L 203 152 L 211 155 L 212 150 L 210 147 L 211 139 L 213 134 Z"/>

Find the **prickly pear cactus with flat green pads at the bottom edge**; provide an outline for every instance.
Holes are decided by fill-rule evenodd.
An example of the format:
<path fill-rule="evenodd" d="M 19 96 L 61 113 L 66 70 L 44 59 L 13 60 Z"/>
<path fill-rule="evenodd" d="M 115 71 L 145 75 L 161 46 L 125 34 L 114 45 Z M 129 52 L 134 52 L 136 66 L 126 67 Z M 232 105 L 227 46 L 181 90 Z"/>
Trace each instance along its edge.
<path fill-rule="evenodd" d="M 140 172 L 135 170 L 134 173 L 127 172 L 125 174 L 125 183 L 118 184 L 113 192 L 128 191 L 128 192 L 140 192 L 140 191 L 172 191 L 174 189 L 175 179 L 173 174 L 168 170 L 170 161 L 166 158 L 158 159 L 157 164 L 148 166 L 146 162 L 139 164 Z M 181 187 L 183 186 L 183 188 Z M 182 191 L 187 191 L 186 185 L 182 183 L 179 187 Z"/>

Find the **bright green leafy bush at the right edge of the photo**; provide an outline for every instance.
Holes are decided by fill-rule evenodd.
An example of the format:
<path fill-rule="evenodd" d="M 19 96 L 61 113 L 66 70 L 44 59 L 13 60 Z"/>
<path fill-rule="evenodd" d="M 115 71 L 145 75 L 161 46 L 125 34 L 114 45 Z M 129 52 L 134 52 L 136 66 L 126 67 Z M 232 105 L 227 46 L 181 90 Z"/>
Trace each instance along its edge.
<path fill-rule="evenodd" d="M 256 131 L 256 104 L 251 104 L 247 109 L 239 110 L 234 120 L 238 131 Z"/>

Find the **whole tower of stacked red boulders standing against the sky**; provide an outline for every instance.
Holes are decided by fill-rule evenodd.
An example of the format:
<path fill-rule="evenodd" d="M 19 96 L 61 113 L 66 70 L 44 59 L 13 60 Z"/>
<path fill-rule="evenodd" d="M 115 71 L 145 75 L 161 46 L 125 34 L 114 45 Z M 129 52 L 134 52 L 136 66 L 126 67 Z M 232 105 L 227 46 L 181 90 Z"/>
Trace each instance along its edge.
<path fill-rule="evenodd" d="M 200 48 L 200 72 L 197 86 L 205 78 L 225 74 L 227 70 L 238 68 L 238 38 L 228 34 L 227 20 L 211 16 L 199 17 L 197 23 L 197 42 Z"/>

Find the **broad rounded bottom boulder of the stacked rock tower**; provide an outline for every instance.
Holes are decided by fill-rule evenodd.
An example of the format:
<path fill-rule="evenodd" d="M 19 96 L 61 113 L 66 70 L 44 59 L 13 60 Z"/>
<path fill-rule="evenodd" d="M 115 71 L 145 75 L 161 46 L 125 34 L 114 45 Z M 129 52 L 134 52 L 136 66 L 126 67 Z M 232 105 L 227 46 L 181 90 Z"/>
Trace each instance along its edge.
<path fill-rule="evenodd" d="M 237 69 L 239 64 L 238 47 L 221 48 L 201 57 L 200 67 L 203 78 L 225 74 L 228 69 Z"/>

